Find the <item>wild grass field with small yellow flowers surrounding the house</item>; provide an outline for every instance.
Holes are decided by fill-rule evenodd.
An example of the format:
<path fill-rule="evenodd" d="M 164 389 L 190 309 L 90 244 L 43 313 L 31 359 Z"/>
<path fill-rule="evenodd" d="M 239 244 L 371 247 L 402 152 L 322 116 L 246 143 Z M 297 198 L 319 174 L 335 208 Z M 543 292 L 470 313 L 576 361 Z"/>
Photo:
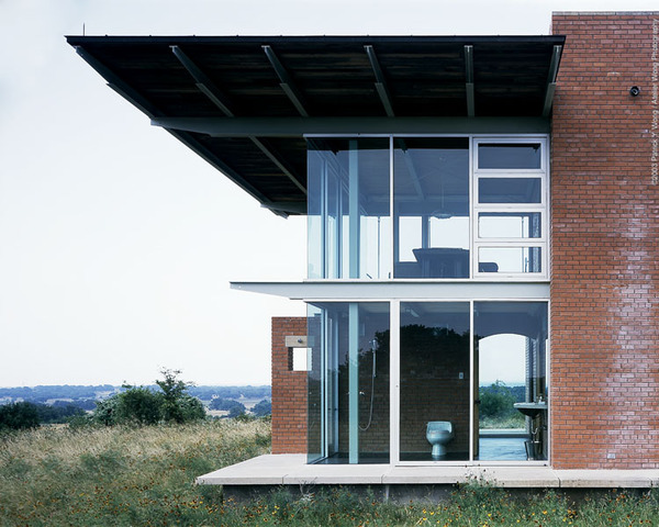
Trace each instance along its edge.
<path fill-rule="evenodd" d="M 513 500 L 472 484 L 440 504 L 393 505 L 347 491 L 292 500 L 222 500 L 197 475 L 268 451 L 267 422 L 144 428 L 42 428 L 0 438 L 2 526 L 637 526 L 659 525 L 657 494 L 611 493 L 578 505 L 556 494 Z"/>

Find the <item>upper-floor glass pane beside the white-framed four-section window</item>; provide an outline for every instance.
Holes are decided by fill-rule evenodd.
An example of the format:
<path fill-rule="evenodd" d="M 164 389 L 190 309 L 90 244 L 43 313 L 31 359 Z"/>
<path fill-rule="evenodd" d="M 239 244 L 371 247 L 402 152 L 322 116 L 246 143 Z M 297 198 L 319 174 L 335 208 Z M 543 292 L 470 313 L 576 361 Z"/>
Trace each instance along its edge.
<path fill-rule="evenodd" d="M 469 143 L 400 138 L 393 154 L 394 277 L 469 278 Z"/>

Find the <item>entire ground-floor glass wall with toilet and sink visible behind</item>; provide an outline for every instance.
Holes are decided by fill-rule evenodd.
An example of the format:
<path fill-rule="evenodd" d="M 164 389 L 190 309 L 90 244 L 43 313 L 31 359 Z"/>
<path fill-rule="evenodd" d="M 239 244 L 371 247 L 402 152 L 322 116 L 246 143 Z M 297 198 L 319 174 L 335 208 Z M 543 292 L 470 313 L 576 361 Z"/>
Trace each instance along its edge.
<path fill-rule="evenodd" d="M 308 330 L 310 462 L 547 460 L 547 302 L 315 303 Z"/>

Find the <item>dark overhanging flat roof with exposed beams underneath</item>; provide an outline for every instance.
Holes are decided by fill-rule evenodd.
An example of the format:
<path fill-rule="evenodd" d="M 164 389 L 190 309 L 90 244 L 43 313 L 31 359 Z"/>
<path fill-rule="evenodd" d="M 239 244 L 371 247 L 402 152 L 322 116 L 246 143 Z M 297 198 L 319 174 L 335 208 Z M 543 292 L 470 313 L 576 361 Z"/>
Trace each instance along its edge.
<path fill-rule="evenodd" d="M 491 117 L 546 121 L 565 37 L 67 41 L 154 124 L 286 215 L 306 211 L 305 134 L 473 131 Z"/>

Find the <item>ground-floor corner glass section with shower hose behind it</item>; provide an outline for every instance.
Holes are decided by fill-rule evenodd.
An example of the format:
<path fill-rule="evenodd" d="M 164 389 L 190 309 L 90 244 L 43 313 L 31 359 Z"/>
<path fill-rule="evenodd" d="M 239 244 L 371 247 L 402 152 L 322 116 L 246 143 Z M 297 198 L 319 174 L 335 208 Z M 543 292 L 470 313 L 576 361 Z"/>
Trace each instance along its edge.
<path fill-rule="evenodd" d="M 389 304 L 316 304 L 309 324 L 310 460 L 388 463 Z"/>

